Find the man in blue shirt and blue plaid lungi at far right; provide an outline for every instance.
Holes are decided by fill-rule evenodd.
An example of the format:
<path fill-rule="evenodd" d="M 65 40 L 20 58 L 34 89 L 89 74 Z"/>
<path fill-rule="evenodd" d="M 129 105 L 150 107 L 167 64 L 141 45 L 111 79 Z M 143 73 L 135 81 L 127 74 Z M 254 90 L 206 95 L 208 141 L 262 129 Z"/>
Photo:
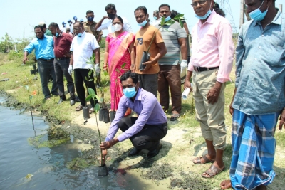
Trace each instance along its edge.
<path fill-rule="evenodd" d="M 274 0 L 245 0 L 252 18 L 239 30 L 232 117 L 230 180 L 222 189 L 267 189 L 272 183 L 276 139 L 285 122 L 285 15 Z M 283 147 L 282 147 L 283 148 Z M 284 189 L 280 188 L 280 189 Z"/>

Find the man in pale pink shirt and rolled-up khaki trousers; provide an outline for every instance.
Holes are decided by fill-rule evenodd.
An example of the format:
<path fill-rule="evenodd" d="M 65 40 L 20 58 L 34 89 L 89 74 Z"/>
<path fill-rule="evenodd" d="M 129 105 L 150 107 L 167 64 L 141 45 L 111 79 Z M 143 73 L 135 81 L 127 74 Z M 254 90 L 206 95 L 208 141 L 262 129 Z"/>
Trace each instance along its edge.
<path fill-rule="evenodd" d="M 234 43 L 229 21 L 214 10 L 211 11 L 213 0 L 192 0 L 191 5 L 199 21 L 191 33 L 192 57 L 185 88 L 193 90 L 196 120 L 200 123 L 208 149 L 206 155 L 193 159 L 193 162 L 213 162 L 202 174 L 210 178 L 224 170 L 222 157 L 227 134 L 224 124 L 224 88 L 232 70 Z"/>

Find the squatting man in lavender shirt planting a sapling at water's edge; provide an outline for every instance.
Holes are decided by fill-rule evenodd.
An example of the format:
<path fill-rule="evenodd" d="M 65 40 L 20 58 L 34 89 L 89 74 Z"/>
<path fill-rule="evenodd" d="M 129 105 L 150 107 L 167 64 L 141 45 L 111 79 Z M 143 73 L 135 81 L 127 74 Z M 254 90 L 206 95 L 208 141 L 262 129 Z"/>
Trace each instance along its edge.
<path fill-rule="evenodd" d="M 165 112 L 155 95 L 139 88 L 138 74 L 128 71 L 120 77 L 120 83 L 124 95 L 120 98 L 115 119 L 110 125 L 105 142 L 100 144 L 100 149 L 103 149 L 103 162 L 107 149 L 125 139 L 130 139 L 134 146 L 129 156 L 135 156 L 142 149 L 147 149 L 147 158 L 155 157 L 162 148 L 160 139 L 167 134 Z M 129 107 L 138 117 L 124 117 Z M 115 137 L 119 128 L 123 133 Z"/>

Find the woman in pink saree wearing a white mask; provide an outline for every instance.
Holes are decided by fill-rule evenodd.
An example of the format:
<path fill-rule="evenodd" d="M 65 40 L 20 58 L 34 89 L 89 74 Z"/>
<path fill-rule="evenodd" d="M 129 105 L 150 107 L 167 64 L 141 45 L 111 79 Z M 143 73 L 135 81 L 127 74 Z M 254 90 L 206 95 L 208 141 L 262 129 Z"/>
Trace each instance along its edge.
<path fill-rule="evenodd" d="M 105 41 L 105 59 L 103 70 L 110 75 L 111 110 L 116 111 L 120 97 L 123 96 L 120 76 L 128 70 L 133 70 L 135 64 L 135 35 L 123 31 L 123 19 L 115 16 L 113 19 L 114 33 L 109 33 Z M 132 110 L 128 109 L 125 116 L 130 115 Z"/>

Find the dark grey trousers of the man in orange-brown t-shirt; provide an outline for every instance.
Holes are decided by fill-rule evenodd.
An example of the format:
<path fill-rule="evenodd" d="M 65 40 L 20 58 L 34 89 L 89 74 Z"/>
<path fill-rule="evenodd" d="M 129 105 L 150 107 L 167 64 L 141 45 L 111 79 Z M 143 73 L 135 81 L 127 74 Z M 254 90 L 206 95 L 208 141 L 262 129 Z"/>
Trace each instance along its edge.
<path fill-rule="evenodd" d="M 140 88 L 147 90 L 157 97 L 157 73 L 156 74 L 138 74 Z"/>

